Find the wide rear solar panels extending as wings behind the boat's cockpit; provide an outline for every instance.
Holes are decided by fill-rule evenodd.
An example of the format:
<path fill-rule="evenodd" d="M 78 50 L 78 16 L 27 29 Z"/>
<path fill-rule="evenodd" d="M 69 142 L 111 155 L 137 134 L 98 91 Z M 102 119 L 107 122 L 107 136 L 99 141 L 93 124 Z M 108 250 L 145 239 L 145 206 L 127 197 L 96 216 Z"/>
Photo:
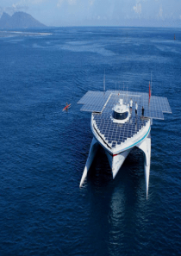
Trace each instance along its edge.
<path fill-rule="evenodd" d="M 144 116 L 154 119 L 164 119 L 163 112 L 172 113 L 166 97 L 152 96 L 149 99 L 148 93 L 136 91 L 88 91 L 78 103 L 84 104 L 81 110 L 99 113 L 111 113 L 114 104 L 123 99 L 124 104 L 133 100 L 133 110 L 135 102 L 138 103 L 138 116 L 142 115 L 141 109 L 144 108 Z"/>

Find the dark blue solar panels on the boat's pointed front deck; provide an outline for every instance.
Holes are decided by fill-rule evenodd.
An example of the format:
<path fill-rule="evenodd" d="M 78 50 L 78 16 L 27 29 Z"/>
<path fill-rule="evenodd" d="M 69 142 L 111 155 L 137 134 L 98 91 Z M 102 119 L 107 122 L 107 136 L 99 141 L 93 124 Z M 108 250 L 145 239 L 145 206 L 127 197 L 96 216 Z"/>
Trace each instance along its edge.
<path fill-rule="evenodd" d="M 129 138 L 138 134 L 148 122 L 146 118 L 131 116 L 128 122 L 121 124 L 112 122 L 109 114 L 93 114 L 93 120 L 96 122 L 93 128 L 108 147 L 120 146 Z"/>

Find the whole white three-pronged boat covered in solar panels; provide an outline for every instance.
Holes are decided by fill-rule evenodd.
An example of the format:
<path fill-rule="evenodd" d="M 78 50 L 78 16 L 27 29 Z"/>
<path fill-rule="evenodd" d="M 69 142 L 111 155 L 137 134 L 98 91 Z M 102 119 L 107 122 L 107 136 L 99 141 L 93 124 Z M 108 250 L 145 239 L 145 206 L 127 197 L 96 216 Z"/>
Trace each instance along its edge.
<path fill-rule="evenodd" d="M 151 161 L 151 125 L 172 113 L 166 97 L 136 91 L 87 91 L 79 101 L 80 110 L 91 112 L 93 139 L 80 187 L 84 184 L 98 147 L 103 147 L 115 178 L 128 153 L 138 147 L 144 153 L 144 172 L 148 195 Z M 132 107 L 130 107 L 132 105 Z M 135 110 L 137 109 L 137 110 Z M 143 110 L 144 109 L 144 110 Z"/>

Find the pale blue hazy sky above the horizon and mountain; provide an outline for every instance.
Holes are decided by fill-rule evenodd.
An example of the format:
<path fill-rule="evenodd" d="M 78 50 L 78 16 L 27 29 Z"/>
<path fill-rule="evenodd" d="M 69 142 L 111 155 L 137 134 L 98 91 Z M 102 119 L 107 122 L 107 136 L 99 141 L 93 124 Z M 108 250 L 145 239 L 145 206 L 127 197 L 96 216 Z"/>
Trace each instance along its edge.
<path fill-rule="evenodd" d="M 16 11 L 57 27 L 181 27 L 181 0 L 0 0 L 0 16 Z"/>

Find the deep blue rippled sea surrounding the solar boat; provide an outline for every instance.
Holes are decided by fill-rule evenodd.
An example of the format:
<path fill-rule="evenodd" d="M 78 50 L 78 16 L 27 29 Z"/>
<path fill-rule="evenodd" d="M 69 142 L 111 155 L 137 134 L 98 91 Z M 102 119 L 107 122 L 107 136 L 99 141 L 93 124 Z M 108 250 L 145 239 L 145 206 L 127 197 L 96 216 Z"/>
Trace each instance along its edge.
<path fill-rule="evenodd" d="M 181 29 L 16 32 L 0 31 L 0 255 L 180 255 Z M 153 120 L 148 199 L 139 149 L 114 180 L 100 150 L 79 189 L 92 134 L 77 103 L 104 71 L 106 90 L 142 92 L 152 73 L 170 103 Z"/>

